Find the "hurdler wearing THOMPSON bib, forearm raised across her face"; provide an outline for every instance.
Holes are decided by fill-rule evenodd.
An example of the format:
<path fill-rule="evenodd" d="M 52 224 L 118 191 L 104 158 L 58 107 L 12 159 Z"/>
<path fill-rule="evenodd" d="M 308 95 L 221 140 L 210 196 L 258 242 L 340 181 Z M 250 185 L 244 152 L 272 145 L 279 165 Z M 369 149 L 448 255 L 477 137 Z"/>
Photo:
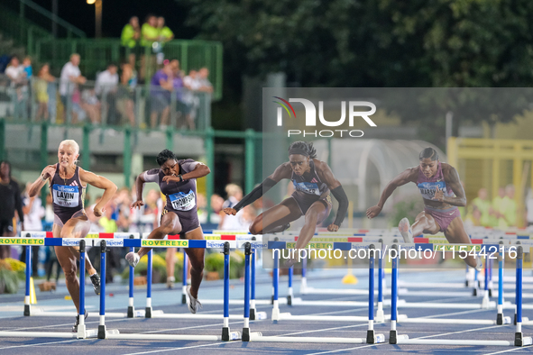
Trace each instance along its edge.
<path fill-rule="evenodd" d="M 204 233 L 198 221 L 197 182 L 211 172 L 206 165 L 193 159 L 178 160 L 170 150 L 162 150 L 157 156 L 161 168 L 144 171 L 135 183 L 137 201 L 133 208 L 141 208 L 142 188 L 145 182 L 157 183 L 167 197 L 167 205 L 161 214 L 161 226 L 154 229 L 148 239 L 163 239 L 165 235 L 180 234 L 185 239 L 204 239 Z M 152 248 L 142 247 L 137 253 L 129 252 L 126 260 L 133 268 Z M 196 314 L 201 304 L 198 302 L 198 288 L 204 277 L 204 249 L 187 248 L 190 259 L 190 286 L 187 287 L 188 310 Z"/>

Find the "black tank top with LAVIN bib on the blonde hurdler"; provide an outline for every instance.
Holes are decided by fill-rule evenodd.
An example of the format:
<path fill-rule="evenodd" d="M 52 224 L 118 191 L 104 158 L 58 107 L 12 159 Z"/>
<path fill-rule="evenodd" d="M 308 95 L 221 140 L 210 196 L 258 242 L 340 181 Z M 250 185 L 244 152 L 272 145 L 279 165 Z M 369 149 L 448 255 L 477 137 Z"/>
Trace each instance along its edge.
<path fill-rule="evenodd" d="M 56 173 L 51 178 L 51 198 L 54 214 L 71 216 L 83 210 L 85 187 L 79 179 L 79 167 L 74 170 L 74 176 L 65 180 L 60 177 L 60 164 L 56 164 Z"/>

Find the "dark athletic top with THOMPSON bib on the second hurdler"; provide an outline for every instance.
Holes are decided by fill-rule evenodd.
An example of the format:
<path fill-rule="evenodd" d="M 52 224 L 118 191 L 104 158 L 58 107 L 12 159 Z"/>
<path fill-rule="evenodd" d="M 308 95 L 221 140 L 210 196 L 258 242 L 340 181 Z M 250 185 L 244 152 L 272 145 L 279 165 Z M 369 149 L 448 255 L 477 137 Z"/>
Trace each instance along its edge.
<path fill-rule="evenodd" d="M 194 170 L 198 161 L 193 159 L 178 160 L 179 174 L 184 175 Z M 156 182 L 161 188 L 161 193 L 167 197 L 167 211 L 197 212 L 197 182 L 190 178 L 181 182 L 163 181 L 165 174 L 161 168 L 152 168 L 144 173 L 144 181 Z"/>

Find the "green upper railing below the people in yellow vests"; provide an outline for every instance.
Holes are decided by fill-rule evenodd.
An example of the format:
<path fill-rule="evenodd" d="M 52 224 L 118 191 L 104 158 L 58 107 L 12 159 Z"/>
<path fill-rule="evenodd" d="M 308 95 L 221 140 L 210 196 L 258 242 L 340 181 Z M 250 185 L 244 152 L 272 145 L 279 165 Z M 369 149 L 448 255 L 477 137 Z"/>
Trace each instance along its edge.
<path fill-rule="evenodd" d="M 135 68 L 142 78 L 150 78 L 161 67 L 152 53 L 151 47 L 136 50 Z M 82 40 L 41 40 L 36 41 L 36 58 L 41 63 L 49 63 L 51 71 L 59 75 L 60 68 L 69 61 L 70 54 L 78 53 L 81 58 L 79 68 L 82 75 L 93 78 L 109 63 L 127 61 L 130 52 L 124 49 L 118 39 Z M 216 41 L 182 41 L 165 43 L 162 48 L 164 59 L 178 59 L 179 66 L 186 73 L 190 69 L 209 69 L 209 80 L 213 84 L 213 100 L 222 98 L 222 44 Z M 149 80 L 146 80 L 149 81 Z"/>

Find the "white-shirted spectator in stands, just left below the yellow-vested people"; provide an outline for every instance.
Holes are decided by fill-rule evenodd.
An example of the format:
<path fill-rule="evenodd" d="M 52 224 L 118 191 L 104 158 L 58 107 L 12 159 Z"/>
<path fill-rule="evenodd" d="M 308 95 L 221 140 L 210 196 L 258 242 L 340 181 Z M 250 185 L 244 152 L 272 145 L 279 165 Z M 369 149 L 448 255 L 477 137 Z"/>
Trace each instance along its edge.
<path fill-rule="evenodd" d="M 116 124 L 115 114 L 116 90 L 118 86 L 118 74 L 115 63 L 107 65 L 107 69 L 96 76 L 95 92 L 102 103 L 102 117 L 107 124 Z"/>

